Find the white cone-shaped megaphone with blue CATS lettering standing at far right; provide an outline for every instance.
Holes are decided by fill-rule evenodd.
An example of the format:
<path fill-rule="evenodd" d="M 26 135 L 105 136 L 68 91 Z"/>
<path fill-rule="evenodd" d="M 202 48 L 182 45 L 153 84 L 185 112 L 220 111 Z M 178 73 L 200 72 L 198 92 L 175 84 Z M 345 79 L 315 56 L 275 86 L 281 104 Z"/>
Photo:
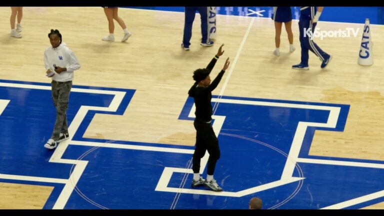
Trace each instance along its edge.
<path fill-rule="evenodd" d="M 373 64 L 372 38 L 370 37 L 369 19 L 365 19 L 365 25 L 362 32 L 360 51 L 358 52 L 357 63 L 360 65 Z"/>

